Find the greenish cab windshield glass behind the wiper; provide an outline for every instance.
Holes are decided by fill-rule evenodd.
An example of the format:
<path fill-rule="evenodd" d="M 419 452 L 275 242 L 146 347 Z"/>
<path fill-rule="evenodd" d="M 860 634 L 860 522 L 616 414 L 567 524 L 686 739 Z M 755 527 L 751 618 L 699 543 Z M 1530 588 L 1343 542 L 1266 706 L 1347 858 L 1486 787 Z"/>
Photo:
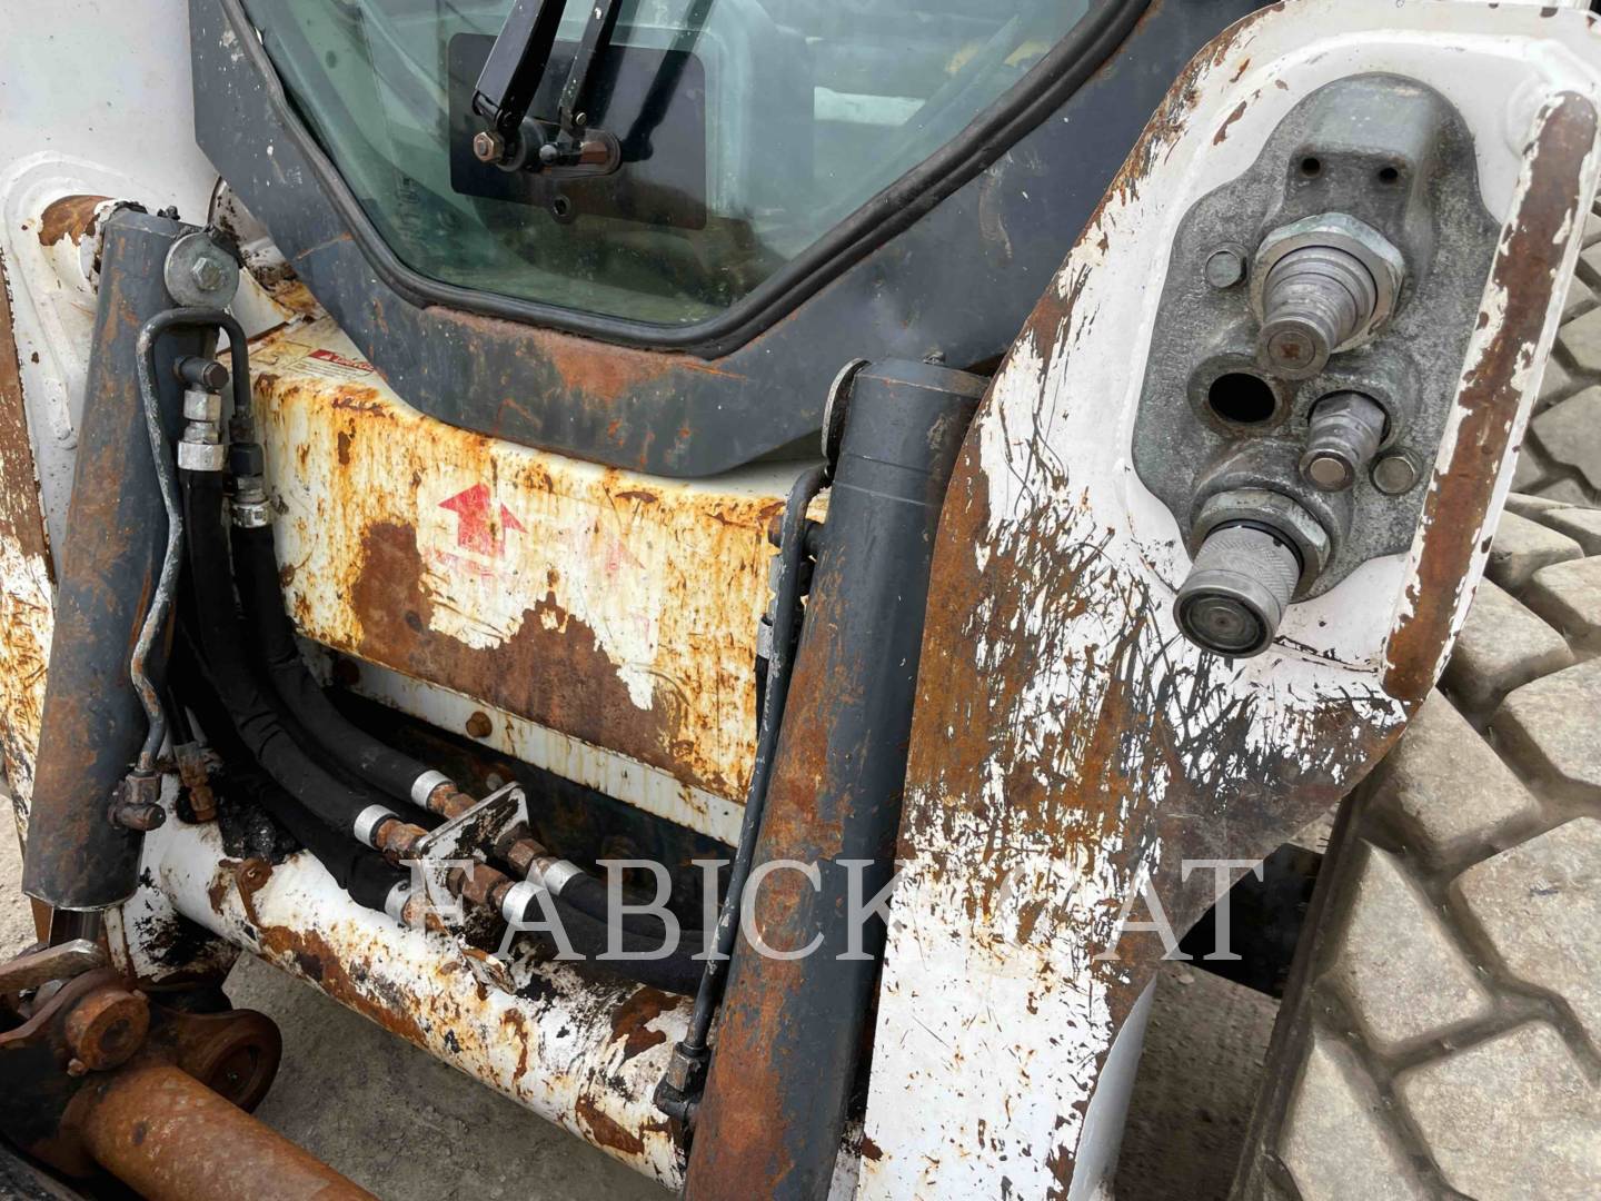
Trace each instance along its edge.
<path fill-rule="evenodd" d="M 548 0 L 557 2 L 557 0 Z M 445 283 L 685 325 L 735 304 L 956 138 L 1089 0 L 623 0 L 588 125 L 604 176 L 480 163 L 474 83 L 511 0 L 247 0 L 367 216 Z M 530 109 L 554 118 L 589 5 Z"/>

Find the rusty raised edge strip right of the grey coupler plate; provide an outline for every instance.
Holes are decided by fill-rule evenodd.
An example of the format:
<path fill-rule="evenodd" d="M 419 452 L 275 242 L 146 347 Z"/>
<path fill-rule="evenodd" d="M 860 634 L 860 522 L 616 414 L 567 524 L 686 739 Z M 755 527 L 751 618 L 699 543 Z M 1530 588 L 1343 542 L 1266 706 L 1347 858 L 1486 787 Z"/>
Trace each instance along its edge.
<path fill-rule="evenodd" d="M 1491 503 L 1491 482 L 1507 456 L 1521 404 L 1519 375 L 1545 328 L 1561 271 L 1561 248 L 1583 226 L 1579 216 L 1585 159 L 1596 138 L 1596 110 L 1577 93 L 1561 93 L 1540 128 L 1529 192 L 1502 234 L 1491 271 L 1505 296 L 1500 327 L 1463 373 L 1457 394 L 1462 423 L 1451 460 L 1434 471 L 1423 504 L 1428 536 L 1409 592 L 1410 615 L 1390 637 L 1385 689 L 1407 705 L 1422 703 L 1439 673 L 1462 597 L 1457 581 L 1478 552 Z M 1481 314 L 1481 328 L 1487 314 Z"/>

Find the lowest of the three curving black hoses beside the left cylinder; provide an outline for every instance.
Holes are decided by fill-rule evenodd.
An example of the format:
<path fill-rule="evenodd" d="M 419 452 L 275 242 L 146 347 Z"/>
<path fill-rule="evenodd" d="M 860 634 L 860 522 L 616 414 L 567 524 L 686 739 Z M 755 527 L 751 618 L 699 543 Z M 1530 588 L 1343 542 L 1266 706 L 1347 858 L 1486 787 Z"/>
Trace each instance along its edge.
<path fill-rule="evenodd" d="M 227 709 L 218 697 L 216 685 L 207 677 L 199 655 L 187 637 L 179 637 L 173 649 L 175 674 L 175 727 L 178 721 L 187 725 L 184 705 L 200 714 L 205 740 L 223 759 L 224 794 L 239 794 L 255 801 L 267 815 L 283 826 L 295 841 L 311 852 L 344 889 L 351 900 L 368 910 L 383 911 L 391 889 L 408 878 L 408 873 L 370 847 L 352 841 L 311 813 L 295 797 L 279 788 L 250 757 L 245 741 L 234 729 Z"/>

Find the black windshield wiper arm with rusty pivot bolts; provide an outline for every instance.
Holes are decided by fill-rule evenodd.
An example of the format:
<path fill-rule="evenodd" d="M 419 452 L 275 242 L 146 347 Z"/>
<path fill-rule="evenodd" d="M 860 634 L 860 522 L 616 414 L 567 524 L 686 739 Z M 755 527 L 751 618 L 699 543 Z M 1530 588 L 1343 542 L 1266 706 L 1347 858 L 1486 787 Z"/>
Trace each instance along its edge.
<path fill-rule="evenodd" d="M 479 72 L 472 110 L 488 122 L 472 154 L 504 171 L 560 170 L 604 175 L 621 163 L 616 138 L 589 128 L 588 98 L 596 61 L 612 43 L 621 0 L 592 0 L 578 54 L 562 86 L 554 122 L 530 117 L 551 66 L 567 0 L 516 0 Z"/>

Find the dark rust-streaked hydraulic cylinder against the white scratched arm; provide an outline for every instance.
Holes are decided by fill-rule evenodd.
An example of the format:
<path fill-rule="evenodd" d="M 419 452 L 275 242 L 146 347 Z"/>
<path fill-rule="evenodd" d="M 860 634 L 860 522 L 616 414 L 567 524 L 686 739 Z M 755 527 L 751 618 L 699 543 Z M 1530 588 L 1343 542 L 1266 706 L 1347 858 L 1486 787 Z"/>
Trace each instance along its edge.
<path fill-rule="evenodd" d="M 871 919 L 853 948 L 849 898 L 893 873 L 933 535 L 983 386 L 911 362 L 852 386 L 754 857 L 815 865 L 817 884 L 788 868 L 746 898 L 768 948 L 813 950 L 735 948 L 692 1201 L 828 1196 L 884 946 Z"/>

